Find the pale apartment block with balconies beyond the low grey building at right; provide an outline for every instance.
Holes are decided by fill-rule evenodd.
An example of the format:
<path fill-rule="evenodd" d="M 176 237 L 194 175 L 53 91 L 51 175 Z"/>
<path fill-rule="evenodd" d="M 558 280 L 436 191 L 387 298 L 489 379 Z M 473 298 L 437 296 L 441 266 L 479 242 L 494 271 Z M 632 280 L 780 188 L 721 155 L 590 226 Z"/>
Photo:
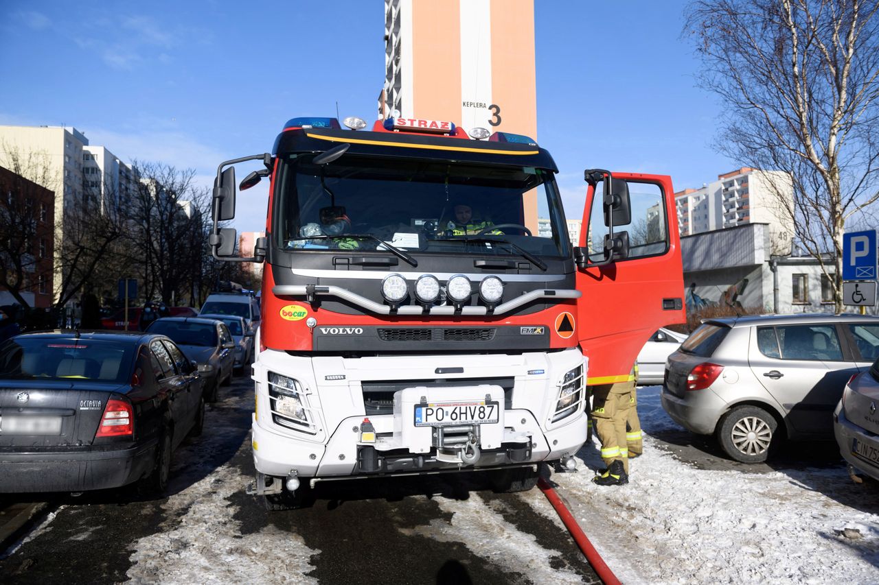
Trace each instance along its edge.
<path fill-rule="evenodd" d="M 774 255 L 790 253 L 793 226 L 784 207 L 793 206 L 793 181 L 778 170 L 749 167 L 717 176 L 701 189 L 675 193 L 680 235 L 765 223 Z"/>

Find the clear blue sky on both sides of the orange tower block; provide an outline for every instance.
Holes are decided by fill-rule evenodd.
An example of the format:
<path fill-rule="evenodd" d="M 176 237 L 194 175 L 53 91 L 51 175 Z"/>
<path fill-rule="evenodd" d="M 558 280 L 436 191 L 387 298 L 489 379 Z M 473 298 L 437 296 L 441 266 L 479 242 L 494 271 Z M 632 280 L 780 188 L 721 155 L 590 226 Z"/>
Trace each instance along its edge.
<path fill-rule="evenodd" d="M 556 159 L 569 217 L 583 170 L 672 176 L 701 187 L 717 154 L 715 97 L 681 37 L 684 2 L 535 0 L 538 141 Z M 295 116 L 375 118 L 384 79 L 381 0 L 0 0 L 0 124 L 75 126 L 130 162 L 208 184 L 223 160 L 271 150 Z M 265 226 L 265 188 L 234 222 Z"/>

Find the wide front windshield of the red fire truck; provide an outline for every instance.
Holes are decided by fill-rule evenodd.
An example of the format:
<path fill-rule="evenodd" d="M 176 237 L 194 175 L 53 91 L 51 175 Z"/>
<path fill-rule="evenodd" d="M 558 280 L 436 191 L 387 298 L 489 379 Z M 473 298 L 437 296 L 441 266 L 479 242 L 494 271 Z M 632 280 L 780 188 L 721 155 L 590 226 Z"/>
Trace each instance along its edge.
<path fill-rule="evenodd" d="M 553 173 L 534 167 L 348 155 L 282 159 L 275 234 L 283 249 L 397 249 L 570 256 Z M 323 176 L 322 176 L 323 175 Z"/>

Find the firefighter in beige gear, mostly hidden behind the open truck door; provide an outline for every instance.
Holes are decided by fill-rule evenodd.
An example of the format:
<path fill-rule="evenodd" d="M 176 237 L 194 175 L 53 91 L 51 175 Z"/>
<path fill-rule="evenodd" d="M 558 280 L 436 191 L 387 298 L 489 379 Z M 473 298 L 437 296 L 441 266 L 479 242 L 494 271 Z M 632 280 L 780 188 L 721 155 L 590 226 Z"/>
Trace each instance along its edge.
<path fill-rule="evenodd" d="M 605 468 L 592 479 L 599 486 L 622 486 L 628 483 L 628 437 L 634 438 L 636 432 L 627 432 L 627 423 L 636 409 L 635 381 L 636 368 L 633 367 L 628 379 L 592 388 L 592 419 L 601 442 L 601 460 L 605 463 Z M 634 422 L 638 439 L 633 441 L 633 446 L 640 455 L 641 425 L 637 421 L 637 412 Z"/>

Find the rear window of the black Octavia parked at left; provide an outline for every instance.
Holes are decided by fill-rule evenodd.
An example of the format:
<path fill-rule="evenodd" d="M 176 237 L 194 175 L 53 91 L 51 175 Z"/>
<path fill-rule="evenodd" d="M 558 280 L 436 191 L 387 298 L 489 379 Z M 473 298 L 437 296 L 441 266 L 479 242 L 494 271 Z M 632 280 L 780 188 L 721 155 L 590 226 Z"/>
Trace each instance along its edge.
<path fill-rule="evenodd" d="M 134 343 L 18 337 L 0 345 L 0 379 L 128 381 Z"/>

